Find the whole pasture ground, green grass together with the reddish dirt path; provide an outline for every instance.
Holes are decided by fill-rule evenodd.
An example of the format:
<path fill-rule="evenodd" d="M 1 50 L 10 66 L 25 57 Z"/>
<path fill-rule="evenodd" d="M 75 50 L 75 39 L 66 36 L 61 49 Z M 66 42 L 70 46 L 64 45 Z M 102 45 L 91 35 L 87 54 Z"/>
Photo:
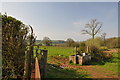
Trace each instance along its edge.
<path fill-rule="evenodd" d="M 68 57 L 74 54 L 72 47 L 41 46 L 48 50 L 47 78 L 116 78 L 118 77 L 118 53 L 108 60 L 90 65 L 69 64 Z M 70 76 L 72 75 L 72 76 Z"/>

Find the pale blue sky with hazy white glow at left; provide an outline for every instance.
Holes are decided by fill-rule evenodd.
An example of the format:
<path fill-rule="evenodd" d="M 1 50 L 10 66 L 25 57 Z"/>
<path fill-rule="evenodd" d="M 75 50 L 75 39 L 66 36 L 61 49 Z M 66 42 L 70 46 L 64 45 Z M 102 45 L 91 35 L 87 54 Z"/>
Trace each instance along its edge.
<path fill-rule="evenodd" d="M 31 25 L 38 40 L 87 40 L 91 36 L 81 31 L 91 19 L 103 23 L 96 37 L 104 32 L 107 38 L 118 36 L 117 2 L 3 2 L 5 12 Z"/>

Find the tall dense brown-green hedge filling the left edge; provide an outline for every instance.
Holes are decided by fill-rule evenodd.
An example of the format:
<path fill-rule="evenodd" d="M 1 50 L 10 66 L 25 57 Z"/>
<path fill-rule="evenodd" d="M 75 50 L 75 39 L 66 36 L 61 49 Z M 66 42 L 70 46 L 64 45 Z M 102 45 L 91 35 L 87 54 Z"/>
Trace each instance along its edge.
<path fill-rule="evenodd" d="M 25 64 L 25 51 L 29 38 L 34 43 L 34 35 L 29 31 L 29 27 L 21 21 L 7 16 L 2 16 L 2 77 L 17 78 L 23 77 Z M 30 27 L 32 28 L 32 27 Z"/>

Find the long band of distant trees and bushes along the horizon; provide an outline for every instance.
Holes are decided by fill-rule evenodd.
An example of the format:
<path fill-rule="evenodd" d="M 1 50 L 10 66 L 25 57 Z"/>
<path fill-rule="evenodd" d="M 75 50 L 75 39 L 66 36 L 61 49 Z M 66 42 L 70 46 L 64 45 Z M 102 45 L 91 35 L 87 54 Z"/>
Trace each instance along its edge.
<path fill-rule="evenodd" d="M 43 40 L 36 40 L 36 44 L 44 45 L 42 42 Z M 51 45 L 50 46 L 68 46 L 68 47 L 75 47 L 75 46 L 80 46 L 81 43 L 85 43 L 86 45 L 95 45 L 98 47 L 101 46 L 106 46 L 108 48 L 119 48 L 119 42 L 120 42 L 120 37 L 112 37 L 112 38 L 106 38 L 105 40 L 102 40 L 101 37 L 96 37 L 94 39 L 94 43 L 92 39 L 88 39 L 86 41 L 79 41 L 75 42 L 74 40 L 67 39 L 65 40 L 51 40 Z"/>

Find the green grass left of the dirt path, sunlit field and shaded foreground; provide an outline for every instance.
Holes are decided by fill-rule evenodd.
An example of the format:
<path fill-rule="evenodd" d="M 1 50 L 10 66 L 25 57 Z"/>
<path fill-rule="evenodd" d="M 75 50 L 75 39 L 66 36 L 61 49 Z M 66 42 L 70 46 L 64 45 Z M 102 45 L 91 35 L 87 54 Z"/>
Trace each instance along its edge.
<path fill-rule="evenodd" d="M 36 48 L 36 47 L 35 47 Z M 59 56 L 68 58 L 74 54 L 73 47 L 57 47 L 57 46 L 41 46 L 40 49 L 48 50 L 48 65 L 47 65 L 47 78 L 87 78 L 90 77 L 87 71 L 71 68 L 60 68 L 60 61 L 53 61 L 52 56 Z M 55 64 L 49 63 L 49 61 L 55 62 Z M 54 66 L 54 67 L 52 67 Z"/>

